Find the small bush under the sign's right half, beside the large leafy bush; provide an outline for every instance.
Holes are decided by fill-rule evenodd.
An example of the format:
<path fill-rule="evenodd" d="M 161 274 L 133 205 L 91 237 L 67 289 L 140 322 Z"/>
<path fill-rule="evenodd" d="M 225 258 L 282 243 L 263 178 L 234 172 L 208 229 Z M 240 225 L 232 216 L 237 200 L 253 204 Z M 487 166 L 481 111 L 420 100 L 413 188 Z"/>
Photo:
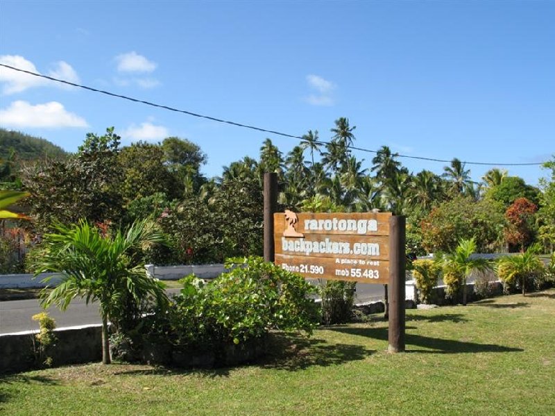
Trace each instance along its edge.
<path fill-rule="evenodd" d="M 345 324 L 352 315 L 356 282 L 326 281 L 321 285 L 321 320 L 325 325 Z"/>

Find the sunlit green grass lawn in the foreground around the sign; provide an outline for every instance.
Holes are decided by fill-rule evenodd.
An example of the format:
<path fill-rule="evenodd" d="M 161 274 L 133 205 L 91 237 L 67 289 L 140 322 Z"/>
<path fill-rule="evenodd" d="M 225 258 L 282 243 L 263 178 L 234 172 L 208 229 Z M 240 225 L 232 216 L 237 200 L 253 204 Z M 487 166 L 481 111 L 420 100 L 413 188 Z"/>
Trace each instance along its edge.
<path fill-rule="evenodd" d="M 0 378 L 6 415 L 555 415 L 555 290 L 276 338 L 264 363 L 62 367 Z M 279 353 L 278 346 L 287 345 Z"/>

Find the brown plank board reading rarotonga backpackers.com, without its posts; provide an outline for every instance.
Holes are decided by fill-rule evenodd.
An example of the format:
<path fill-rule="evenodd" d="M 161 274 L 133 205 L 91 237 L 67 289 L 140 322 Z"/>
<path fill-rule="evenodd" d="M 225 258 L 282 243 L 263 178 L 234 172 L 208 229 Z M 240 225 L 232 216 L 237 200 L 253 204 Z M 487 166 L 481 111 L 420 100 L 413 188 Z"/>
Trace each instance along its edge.
<path fill-rule="evenodd" d="M 275 264 L 306 278 L 386 284 L 390 217 L 391 213 L 275 213 Z"/>

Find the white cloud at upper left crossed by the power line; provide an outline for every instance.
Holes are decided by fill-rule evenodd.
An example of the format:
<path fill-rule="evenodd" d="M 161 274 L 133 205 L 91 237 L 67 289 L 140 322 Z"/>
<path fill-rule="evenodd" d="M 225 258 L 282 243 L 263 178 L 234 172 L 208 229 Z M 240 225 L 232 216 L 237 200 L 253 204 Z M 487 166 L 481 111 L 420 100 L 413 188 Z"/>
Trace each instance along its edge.
<path fill-rule="evenodd" d="M 23 56 L 2 55 L 0 56 L 0 63 L 40 74 L 35 65 L 30 60 L 26 60 Z M 75 70 L 71 67 L 71 65 L 63 60 L 56 63 L 53 69 L 47 72 L 46 75 L 53 78 L 59 78 L 64 81 L 69 81 L 71 83 L 79 82 L 79 77 L 77 76 Z M 0 83 L 3 83 L 3 94 L 15 94 L 17 92 L 28 90 L 28 88 L 42 87 L 44 85 L 56 85 L 58 87 L 65 86 L 67 88 L 67 85 L 49 81 L 47 79 L 40 78 L 39 76 L 25 74 L 24 72 L 15 71 L 14 69 L 6 67 L 0 67 Z"/>

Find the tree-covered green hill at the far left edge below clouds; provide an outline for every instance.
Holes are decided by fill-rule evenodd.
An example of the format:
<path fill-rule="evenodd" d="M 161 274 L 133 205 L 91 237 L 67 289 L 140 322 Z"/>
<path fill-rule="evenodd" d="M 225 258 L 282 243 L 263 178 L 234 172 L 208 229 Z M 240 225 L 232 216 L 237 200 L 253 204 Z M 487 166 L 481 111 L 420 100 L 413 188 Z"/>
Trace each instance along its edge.
<path fill-rule="evenodd" d="M 0 128 L 0 160 L 10 158 L 12 149 L 15 150 L 16 160 L 34 160 L 45 156 L 49 158 L 67 156 L 64 149 L 46 139 Z"/>

